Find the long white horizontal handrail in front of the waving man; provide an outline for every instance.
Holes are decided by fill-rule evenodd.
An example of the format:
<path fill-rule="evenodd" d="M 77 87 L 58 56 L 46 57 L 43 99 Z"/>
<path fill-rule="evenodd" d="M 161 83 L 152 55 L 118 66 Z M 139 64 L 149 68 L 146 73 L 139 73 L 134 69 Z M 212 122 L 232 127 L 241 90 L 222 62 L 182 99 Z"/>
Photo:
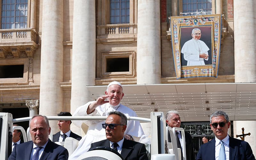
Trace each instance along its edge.
<path fill-rule="evenodd" d="M 106 120 L 107 116 L 47 116 L 49 120 Z M 31 117 L 12 119 L 12 123 L 29 121 Z M 127 116 L 127 120 L 151 122 L 150 118 Z"/>

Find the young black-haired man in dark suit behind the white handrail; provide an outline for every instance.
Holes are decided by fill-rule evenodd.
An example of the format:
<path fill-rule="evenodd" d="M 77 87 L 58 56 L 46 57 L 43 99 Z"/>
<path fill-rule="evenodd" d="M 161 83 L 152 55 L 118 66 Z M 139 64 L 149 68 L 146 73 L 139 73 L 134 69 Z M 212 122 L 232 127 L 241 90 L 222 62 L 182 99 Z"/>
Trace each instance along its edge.
<path fill-rule="evenodd" d="M 72 116 L 69 112 L 60 112 L 58 114 L 58 116 Z M 52 136 L 52 141 L 53 142 L 61 142 L 61 141 L 65 141 L 65 139 L 67 137 L 72 137 L 76 140 L 81 140 L 81 136 L 73 133 L 71 130 L 70 130 L 70 124 L 72 122 L 71 121 L 65 121 L 65 120 L 58 120 L 58 127 L 60 129 L 60 132 L 57 132 L 56 134 L 54 134 Z"/>

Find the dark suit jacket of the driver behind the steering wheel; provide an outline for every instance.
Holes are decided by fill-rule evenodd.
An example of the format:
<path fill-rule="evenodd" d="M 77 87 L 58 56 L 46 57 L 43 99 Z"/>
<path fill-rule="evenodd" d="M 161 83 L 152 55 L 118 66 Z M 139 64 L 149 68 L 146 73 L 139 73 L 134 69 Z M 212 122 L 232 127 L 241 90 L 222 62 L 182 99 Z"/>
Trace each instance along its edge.
<path fill-rule="evenodd" d="M 91 144 L 91 148 L 97 146 L 110 147 L 110 142 L 109 140 L 101 140 Z M 124 160 L 148 160 L 144 144 L 126 139 L 124 139 L 121 156 Z"/>

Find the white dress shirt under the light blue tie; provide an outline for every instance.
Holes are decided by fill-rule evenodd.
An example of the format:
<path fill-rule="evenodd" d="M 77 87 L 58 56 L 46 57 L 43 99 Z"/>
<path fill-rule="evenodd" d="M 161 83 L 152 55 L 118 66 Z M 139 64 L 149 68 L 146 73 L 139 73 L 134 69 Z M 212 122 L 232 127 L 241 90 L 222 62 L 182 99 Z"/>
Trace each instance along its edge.
<path fill-rule="evenodd" d="M 225 148 L 226 160 L 229 160 L 229 136 L 227 135 L 222 141 Z M 219 160 L 220 146 L 220 140 L 215 137 L 215 160 Z"/>

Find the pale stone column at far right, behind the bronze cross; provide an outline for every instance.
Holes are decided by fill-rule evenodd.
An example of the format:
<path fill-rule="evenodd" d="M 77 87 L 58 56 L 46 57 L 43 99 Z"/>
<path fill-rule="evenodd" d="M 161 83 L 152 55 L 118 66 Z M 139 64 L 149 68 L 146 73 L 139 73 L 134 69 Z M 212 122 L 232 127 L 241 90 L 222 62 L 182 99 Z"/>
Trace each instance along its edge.
<path fill-rule="evenodd" d="M 242 4 L 241 2 L 234 0 L 234 48 L 236 83 L 256 81 L 256 30 L 254 28 L 256 25 L 256 20 L 253 16 L 256 14 L 255 5 L 256 1 L 254 0 L 245 0 Z M 245 133 L 251 133 L 250 136 L 245 137 L 245 141 L 251 145 L 252 151 L 255 153 L 256 144 L 254 142 L 256 139 L 256 121 L 236 121 L 236 134 L 240 134 L 242 132 L 241 128 L 243 127 Z"/>

